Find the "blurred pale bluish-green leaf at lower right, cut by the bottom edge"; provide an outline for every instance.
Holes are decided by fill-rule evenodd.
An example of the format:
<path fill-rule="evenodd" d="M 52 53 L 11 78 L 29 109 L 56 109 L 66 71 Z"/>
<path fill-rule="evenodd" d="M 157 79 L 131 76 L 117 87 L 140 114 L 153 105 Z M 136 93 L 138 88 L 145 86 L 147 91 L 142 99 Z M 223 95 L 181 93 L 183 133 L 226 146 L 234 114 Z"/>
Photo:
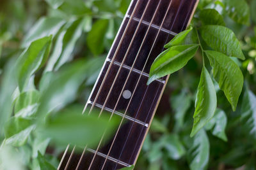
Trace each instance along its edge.
<path fill-rule="evenodd" d="M 199 131 L 188 151 L 188 162 L 191 170 L 207 169 L 209 161 L 209 139 L 204 129 Z"/>

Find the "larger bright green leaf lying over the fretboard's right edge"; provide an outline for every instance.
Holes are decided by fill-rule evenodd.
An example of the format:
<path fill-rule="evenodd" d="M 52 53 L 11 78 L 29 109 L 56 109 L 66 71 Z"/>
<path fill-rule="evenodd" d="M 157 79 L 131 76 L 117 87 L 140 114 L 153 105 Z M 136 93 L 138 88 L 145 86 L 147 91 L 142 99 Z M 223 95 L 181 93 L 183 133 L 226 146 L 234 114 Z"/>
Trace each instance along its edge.
<path fill-rule="evenodd" d="M 184 67 L 195 55 L 198 45 L 179 45 L 165 50 L 154 60 L 147 84 Z"/>

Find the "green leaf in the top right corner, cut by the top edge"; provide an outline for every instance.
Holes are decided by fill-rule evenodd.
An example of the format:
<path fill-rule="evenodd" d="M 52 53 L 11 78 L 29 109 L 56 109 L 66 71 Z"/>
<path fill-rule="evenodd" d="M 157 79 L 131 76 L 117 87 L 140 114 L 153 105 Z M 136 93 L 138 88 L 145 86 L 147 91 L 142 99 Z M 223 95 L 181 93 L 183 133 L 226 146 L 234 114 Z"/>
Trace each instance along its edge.
<path fill-rule="evenodd" d="M 235 22 L 250 25 L 250 8 L 244 0 L 225 0 L 226 11 Z"/>

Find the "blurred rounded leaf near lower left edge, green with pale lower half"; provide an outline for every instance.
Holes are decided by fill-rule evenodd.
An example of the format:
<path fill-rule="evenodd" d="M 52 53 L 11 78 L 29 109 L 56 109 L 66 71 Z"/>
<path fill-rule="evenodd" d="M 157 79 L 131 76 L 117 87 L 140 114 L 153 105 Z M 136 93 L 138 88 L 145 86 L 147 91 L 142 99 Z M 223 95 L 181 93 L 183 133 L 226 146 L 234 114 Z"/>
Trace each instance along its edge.
<path fill-rule="evenodd" d="M 35 129 L 33 121 L 26 118 L 12 117 L 4 127 L 5 145 L 22 146 L 26 143 L 31 131 Z"/>

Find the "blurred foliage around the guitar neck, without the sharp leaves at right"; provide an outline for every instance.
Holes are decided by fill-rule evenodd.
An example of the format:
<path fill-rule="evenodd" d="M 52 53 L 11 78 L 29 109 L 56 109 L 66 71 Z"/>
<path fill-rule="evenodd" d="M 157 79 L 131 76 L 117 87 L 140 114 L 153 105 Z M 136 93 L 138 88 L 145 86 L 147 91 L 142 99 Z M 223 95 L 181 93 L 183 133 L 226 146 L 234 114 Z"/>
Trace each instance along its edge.
<path fill-rule="evenodd" d="M 67 141 L 62 135 L 67 134 L 65 127 L 71 129 L 69 135 L 76 131 L 79 135 L 74 136 L 81 136 L 77 131 L 81 128 L 89 129 L 90 135 L 94 127 L 84 126 L 88 118 L 75 127 L 81 116 L 70 119 L 68 114 L 82 112 L 129 2 L 1 1 L 0 164 L 3 169 L 54 169 Z M 201 54 L 196 53 L 186 67 L 172 74 L 135 169 L 256 168 L 256 99 L 253 95 L 256 93 L 256 1 L 246 1 L 248 9 L 242 8 L 244 1 L 231 1 L 237 3 L 237 8 L 231 10 L 223 6 L 225 2 L 228 0 L 201 0 L 193 24 L 202 20 L 201 10 L 216 9 L 239 39 L 246 60 L 236 60 L 244 75 L 237 110 L 232 111 L 215 83 L 218 117 L 194 138 L 189 137 L 203 65 Z M 44 42 L 40 39 L 43 37 L 46 37 Z M 28 60 L 24 62 L 20 58 L 32 56 L 26 49 L 36 39 L 40 39 L 37 43 L 42 48 L 39 51 L 31 48 L 35 58 L 31 58 L 29 66 L 33 67 L 29 68 Z M 48 48 L 51 48 L 49 52 Z M 27 53 L 22 53 L 24 50 Z M 206 65 L 209 67 L 209 63 Z M 49 105 L 52 102 L 49 99 L 55 99 L 52 101 L 56 103 Z M 58 117 L 60 112 L 67 113 L 62 120 Z M 49 120 L 42 125 L 45 117 Z M 92 117 L 92 120 L 95 119 Z M 104 118 L 102 123 L 106 124 Z M 40 133 L 42 128 L 47 134 Z M 102 129 L 104 126 L 98 131 Z M 74 138 L 74 144 L 83 145 L 79 141 L 84 140 L 88 139 Z M 58 147 L 53 150 L 49 144 Z"/>

